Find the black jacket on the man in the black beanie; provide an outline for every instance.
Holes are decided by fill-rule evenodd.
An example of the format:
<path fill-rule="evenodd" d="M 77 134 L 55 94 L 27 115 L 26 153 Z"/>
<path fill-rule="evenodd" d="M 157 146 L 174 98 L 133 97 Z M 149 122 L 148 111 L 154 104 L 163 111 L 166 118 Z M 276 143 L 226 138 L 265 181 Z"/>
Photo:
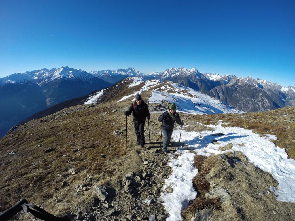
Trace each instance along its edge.
<path fill-rule="evenodd" d="M 134 103 L 134 108 L 133 108 Z M 129 109 L 126 110 L 127 115 L 129 116 L 132 112 L 132 119 L 134 122 L 145 122 L 145 117 L 150 119 L 150 112 L 148 110 L 148 105 L 141 100 L 141 104 L 137 105 L 136 101 L 132 102 Z"/>

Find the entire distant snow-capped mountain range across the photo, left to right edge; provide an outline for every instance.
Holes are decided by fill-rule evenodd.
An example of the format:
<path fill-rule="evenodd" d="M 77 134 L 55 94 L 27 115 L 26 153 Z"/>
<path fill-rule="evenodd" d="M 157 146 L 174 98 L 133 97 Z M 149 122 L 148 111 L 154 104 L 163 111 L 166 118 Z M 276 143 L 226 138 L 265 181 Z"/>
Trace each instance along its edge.
<path fill-rule="evenodd" d="M 173 81 L 218 98 L 245 112 L 295 105 L 293 86 L 285 88 L 277 83 L 252 77 L 200 73 L 195 68 L 171 68 L 150 74 L 144 74 L 132 67 L 90 73 L 69 67 L 51 70 L 44 68 L 0 78 L 0 103 L 4 107 L 1 108 L 0 115 L 0 137 L 12 126 L 36 112 L 71 99 L 75 101 L 76 98 L 108 88 L 126 77 Z M 121 84 L 120 87 L 122 86 Z M 117 91 L 114 88 L 112 90 Z M 114 93 L 111 88 L 108 92 Z M 107 99 L 110 95 L 105 96 Z M 55 106 L 52 110 L 57 110 L 56 108 Z"/>

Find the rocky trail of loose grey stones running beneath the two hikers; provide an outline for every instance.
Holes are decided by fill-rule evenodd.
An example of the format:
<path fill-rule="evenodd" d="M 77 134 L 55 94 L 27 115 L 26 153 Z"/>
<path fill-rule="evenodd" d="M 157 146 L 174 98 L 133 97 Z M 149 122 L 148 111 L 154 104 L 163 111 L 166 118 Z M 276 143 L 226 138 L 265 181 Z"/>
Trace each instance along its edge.
<path fill-rule="evenodd" d="M 159 115 L 159 114 L 157 114 Z M 171 167 L 167 165 L 169 158 L 160 148 L 159 122 L 150 120 L 150 143 L 148 121 L 145 123 L 145 148 L 136 145 L 136 136 L 132 123 L 129 122 L 128 149 L 140 157 L 136 171 L 129 171 L 119 184 L 112 188 L 100 186 L 95 191 L 102 196 L 97 207 L 93 207 L 92 217 L 95 220 L 165 220 L 168 215 L 163 204 L 158 202 L 163 191 L 172 192 L 171 188 L 163 190 L 165 179 L 171 175 Z M 114 131 L 116 133 L 116 131 Z M 117 132 L 119 133 L 119 132 Z M 162 142 L 164 135 L 162 135 Z M 163 143 L 162 143 L 163 144 Z M 169 152 L 173 152 L 179 144 L 171 142 Z M 103 192 L 107 192 L 106 194 Z M 105 198 L 105 199 L 104 199 Z M 79 216 L 84 220 L 88 216 Z M 91 218 L 91 216 L 90 216 Z M 85 219 L 87 220 L 87 219 Z"/>

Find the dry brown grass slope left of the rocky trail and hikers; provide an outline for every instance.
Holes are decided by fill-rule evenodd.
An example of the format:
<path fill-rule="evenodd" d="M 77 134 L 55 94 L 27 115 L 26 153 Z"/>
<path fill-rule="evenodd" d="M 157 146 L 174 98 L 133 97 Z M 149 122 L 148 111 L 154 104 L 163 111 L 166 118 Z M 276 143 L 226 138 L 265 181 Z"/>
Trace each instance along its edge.
<path fill-rule="evenodd" d="M 65 114 L 78 108 L 81 109 Z M 83 184 L 83 177 L 91 176 L 102 183 L 120 174 L 122 157 L 129 152 L 125 133 L 113 135 L 114 130 L 125 126 L 121 115 L 122 108 L 115 105 L 75 106 L 43 118 L 42 123 L 40 119 L 32 120 L 2 138 L 0 211 L 24 197 L 50 212 L 50 208 L 55 210 L 55 196 L 66 202 L 73 199 L 75 186 Z M 48 148 L 55 151 L 45 153 Z M 79 151 L 73 152 L 74 149 Z M 9 154 L 11 151 L 16 154 Z M 63 156 L 66 154 L 69 156 Z M 61 187 L 63 181 L 68 182 L 68 187 Z"/>

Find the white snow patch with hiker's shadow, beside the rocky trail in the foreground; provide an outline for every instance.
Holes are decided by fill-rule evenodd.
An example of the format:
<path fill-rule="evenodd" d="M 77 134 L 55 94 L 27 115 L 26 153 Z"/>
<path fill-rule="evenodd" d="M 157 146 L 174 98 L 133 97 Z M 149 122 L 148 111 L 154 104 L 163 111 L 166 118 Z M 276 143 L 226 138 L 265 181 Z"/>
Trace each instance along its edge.
<path fill-rule="evenodd" d="M 163 201 L 166 211 L 170 214 L 166 220 L 183 220 L 181 211 L 186 207 L 188 200 L 195 197 L 196 192 L 190 185 L 192 185 L 192 179 L 198 170 L 192 166 L 194 154 L 189 152 L 191 150 L 204 156 L 241 151 L 250 162 L 271 173 L 278 181 L 278 189 L 270 187 L 270 191 L 275 193 L 278 201 L 295 202 L 295 161 L 288 159 L 285 149 L 275 146 L 270 141 L 277 139 L 276 136 L 264 134 L 264 137 L 260 137 L 260 134 L 244 128 L 222 127 L 222 123 L 209 125 L 209 127 L 214 128 L 214 131 L 186 132 L 184 127 L 181 133 L 181 142 L 185 143 L 189 150 L 180 148 L 174 154 L 170 154 L 168 165 L 172 167 L 173 173 L 165 180 L 163 190 L 166 187 L 172 187 L 173 193 L 164 192 L 159 197 L 159 201 Z M 220 135 L 217 135 L 219 133 Z M 178 128 L 173 131 L 171 141 L 178 142 L 179 136 L 180 129 Z M 212 143 L 214 140 L 219 144 Z M 228 143 L 233 144 L 232 149 L 219 150 L 221 146 Z M 180 156 L 173 159 L 174 155 Z M 186 183 L 184 184 L 184 182 Z"/>

